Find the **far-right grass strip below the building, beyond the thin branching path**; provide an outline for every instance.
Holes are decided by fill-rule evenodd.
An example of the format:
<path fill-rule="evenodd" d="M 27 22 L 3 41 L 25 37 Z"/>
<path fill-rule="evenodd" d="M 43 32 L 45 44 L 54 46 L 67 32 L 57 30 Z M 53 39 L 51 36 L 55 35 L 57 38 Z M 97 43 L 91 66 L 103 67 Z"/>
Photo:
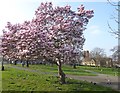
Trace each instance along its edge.
<path fill-rule="evenodd" d="M 108 74 L 112 76 L 120 76 L 120 68 L 107 68 L 107 67 L 90 67 L 90 66 L 78 66 L 78 69 L 90 70 L 101 74 Z"/>

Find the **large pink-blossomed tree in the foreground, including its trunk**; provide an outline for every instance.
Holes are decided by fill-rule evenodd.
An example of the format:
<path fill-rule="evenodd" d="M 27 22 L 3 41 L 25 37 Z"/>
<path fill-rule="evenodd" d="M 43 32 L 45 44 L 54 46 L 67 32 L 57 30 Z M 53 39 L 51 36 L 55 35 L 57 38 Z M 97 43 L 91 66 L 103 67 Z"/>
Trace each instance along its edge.
<path fill-rule="evenodd" d="M 85 10 L 81 5 L 78 11 L 70 6 L 55 7 L 52 3 L 41 3 L 35 11 L 35 18 L 23 24 L 8 22 L 3 34 L 2 55 L 13 60 L 54 61 L 58 65 L 60 82 L 65 83 L 62 63 L 76 61 L 85 42 L 83 31 L 93 10 Z"/>

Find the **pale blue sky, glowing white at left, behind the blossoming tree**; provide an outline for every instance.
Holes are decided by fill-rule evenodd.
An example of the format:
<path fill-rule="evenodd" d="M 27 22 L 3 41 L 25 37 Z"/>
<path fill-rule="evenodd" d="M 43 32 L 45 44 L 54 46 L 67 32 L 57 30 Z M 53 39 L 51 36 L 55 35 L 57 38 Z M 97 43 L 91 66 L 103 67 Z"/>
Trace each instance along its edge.
<path fill-rule="evenodd" d="M 7 22 L 23 23 L 34 17 L 35 10 L 41 2 L 49 0 L 0 0 L 0 35 Z M 110 49 L 118 45 L 118 39 L 111 33 L 108 27 L 117 29 L 117 23 L 113 16 L 117 15 L 115 7 L 111 6 L 107 0 L 51 0 L 54 6 L 70 5 L 72 10 L 76 10 L 81 4 L 86 10 L 93 9 L 94 17 L 90 19 L 87 29 L 84 31 L 86 39 L 83 49 L 93 50 L 96 47 L 103 48 L 108 56 L 112 54 Z M 115 0 L 113 0 L 115 1 Z"/>

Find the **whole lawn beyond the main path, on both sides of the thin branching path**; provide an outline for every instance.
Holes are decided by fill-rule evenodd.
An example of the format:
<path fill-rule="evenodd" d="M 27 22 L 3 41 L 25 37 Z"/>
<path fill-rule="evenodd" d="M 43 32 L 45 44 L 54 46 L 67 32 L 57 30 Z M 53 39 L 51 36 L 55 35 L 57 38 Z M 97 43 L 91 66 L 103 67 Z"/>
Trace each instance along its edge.
<path fill-rule="evenodd" d="M 21 65 L 17 65 L 17 66 L 21 66 Z M 53 65 L 53 66 L 30 65 L 29 68 L 34 69 L 34 70 L 41 70 L 43 72 L 53 72 L 53 73 L 58 72 L 56 65 Z M 73 69 L 69 65 L 63 65 L 62 69 L 65 72 L 65 74 L 71 74 L 71 75 L 96 76 L 97 73 L 101 73 L 101 74 L 108 74 L 108 75 L 112 75 L 112 76 L 120 76 L 119 68 L 77 66 L 77 69 Z M 97 73 L 92 73 L 90 71 L 97 72 Z"/>

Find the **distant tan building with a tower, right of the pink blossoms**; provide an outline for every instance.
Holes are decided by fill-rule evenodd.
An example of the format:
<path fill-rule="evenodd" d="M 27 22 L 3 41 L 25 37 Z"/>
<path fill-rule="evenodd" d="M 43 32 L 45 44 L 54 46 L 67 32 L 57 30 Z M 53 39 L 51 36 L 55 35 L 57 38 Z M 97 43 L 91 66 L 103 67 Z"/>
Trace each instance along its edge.
<path fill-rule="evenodd" d="M 81 65 L 113 67 L 113 62 L 111 58 L 105 57 L 98 60 L 96 58 L 90 57 L 89 51 L 84 51 L 83 55 L 84 58 L 81 62 Z"/>

